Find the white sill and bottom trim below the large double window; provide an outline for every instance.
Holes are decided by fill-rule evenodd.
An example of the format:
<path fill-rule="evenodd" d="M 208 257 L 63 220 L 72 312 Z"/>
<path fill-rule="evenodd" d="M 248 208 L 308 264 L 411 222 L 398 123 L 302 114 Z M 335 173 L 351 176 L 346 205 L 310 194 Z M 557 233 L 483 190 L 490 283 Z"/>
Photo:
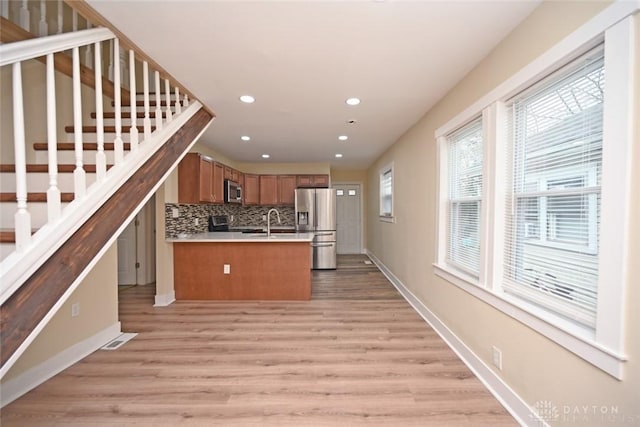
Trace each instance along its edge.
<path fill-rule="evenodd" d="M 498 295 L 491 290 L 477 286 L 446 266 L 434 264 L 433 267 L 435 274 L 447 282 L 529 326 L 542 336 L 549 338 L 609 375 L 622 379 L 624 362 L 627 357 L 595 342 L 590 331 L 578 329 L 570 322 L 566 322 L 564 327 L 557 326 L 545 320 L 545 317 L 549 317 L 546 311 L 540 310 L 540 316 L 536 316 L 535 308 L 520 299 L 507 299 L 508 296 L 505 294 Z"/>

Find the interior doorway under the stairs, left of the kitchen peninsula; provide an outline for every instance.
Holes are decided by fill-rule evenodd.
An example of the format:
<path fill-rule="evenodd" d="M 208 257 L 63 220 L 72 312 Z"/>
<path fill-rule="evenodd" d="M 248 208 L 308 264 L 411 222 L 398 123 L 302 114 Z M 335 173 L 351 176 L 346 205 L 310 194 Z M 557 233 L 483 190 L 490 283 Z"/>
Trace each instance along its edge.
<path fill-rule="evenodd" d="M 156 280 L 155 196 L 118 236 L 118 285 L 146 285 Z"/>

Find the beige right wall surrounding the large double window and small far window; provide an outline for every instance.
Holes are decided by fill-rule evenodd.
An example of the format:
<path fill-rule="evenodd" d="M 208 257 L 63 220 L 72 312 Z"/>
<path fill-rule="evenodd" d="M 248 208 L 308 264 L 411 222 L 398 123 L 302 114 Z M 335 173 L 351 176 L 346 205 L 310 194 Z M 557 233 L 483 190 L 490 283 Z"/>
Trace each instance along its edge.
<path fill-rule="evenodd" d="M 429 110 L 368 170 L 368 249 L 485 364 L 491 347 L 502 350 L 496 373 L 527 404 L 553 402 L 560 408 L 615 407 L 626 423 L 640 423 L 640 226 L 632 225 L 623 244 L 630 250 L 632 284 L 628 289 L 626 339 L 629 361 L 623 381 L 575 356 L 520 322 L 434 274 L 436 248 L 435 130 L 494 89 L 564 36 L 607 6 L 602 2 L 542 3 L 454 89 Z M 640 34 L 636 18 L 636 37 Z M 640 46 L 637 44 L 636 49 Z M 640 55 L 636 55 L 638 58 Z M 636 65 L 640 75 L 640 64 Z M 640 100 L 640 90 L 635 99 Z M 640 104 L 640 103 L 638 103 Z M 636 104 L 636 111 L 640 105 Z M 640 130 L 636 121 L 632 218 L 640 218 Z M 378 218 L 378 172 L 394 164 L 395 223 Z M 636 260 L 634 263 L 632 260 Z M 557 424 L 603 425 L 597 414 L 578 409 L 581 418 L 561 417 Z M 573 414 L 575 415 L 575 414 Z M 617 419 L 618 422 L 621 420 Z M 608 422 L 607 422 L 608 424 Z"/>

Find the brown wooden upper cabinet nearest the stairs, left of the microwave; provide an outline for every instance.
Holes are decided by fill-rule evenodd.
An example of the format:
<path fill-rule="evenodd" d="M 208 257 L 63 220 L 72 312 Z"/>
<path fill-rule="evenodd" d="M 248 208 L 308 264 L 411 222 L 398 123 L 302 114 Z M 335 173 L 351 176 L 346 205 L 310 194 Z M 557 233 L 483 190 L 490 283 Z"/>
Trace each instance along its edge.
<path fill-rule="evenodd" d="M 213 203 L 213 159 L 188 153 L 178 165 L 178 203 Z"/>

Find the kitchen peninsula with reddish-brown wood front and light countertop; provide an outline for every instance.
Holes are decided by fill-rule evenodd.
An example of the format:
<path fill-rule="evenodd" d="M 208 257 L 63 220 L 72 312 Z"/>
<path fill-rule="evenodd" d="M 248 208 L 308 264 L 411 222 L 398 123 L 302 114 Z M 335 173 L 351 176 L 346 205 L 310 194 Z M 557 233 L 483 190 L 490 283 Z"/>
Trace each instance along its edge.
<path fill-rule="evenodd" d="M 198 233 L 173 243 L 178 300 L 309 300 L 310 233 Z"/>

